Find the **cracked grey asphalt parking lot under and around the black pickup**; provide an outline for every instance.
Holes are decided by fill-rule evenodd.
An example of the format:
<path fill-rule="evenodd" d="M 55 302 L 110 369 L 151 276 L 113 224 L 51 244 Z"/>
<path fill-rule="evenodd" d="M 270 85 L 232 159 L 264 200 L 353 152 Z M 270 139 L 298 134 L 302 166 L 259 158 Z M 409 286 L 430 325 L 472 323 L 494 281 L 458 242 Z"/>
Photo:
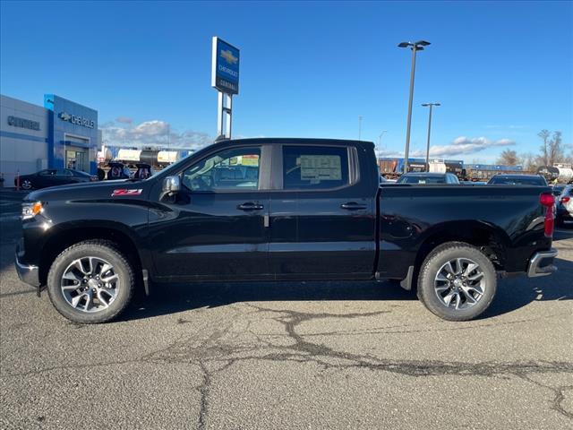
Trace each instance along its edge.
<path fill-rule="evenodd" d="M 83 326 L 13 270 L 20 198 L 0 193 L 1 428 L 573 426 L 573 228 L 556 275 L 500 280 L 469 323 L 394 284 L 309 282 L 156 288 Z"/>

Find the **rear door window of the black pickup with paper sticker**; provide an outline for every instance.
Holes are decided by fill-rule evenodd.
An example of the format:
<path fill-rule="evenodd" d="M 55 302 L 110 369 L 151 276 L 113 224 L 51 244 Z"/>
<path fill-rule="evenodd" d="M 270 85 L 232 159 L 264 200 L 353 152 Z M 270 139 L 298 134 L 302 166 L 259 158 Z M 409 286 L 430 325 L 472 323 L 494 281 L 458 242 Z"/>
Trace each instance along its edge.
<path fill-rule="evenodd" d="M 346 147 L 283 146 L 283 189 L 327 190 L 350 184 Z"/>

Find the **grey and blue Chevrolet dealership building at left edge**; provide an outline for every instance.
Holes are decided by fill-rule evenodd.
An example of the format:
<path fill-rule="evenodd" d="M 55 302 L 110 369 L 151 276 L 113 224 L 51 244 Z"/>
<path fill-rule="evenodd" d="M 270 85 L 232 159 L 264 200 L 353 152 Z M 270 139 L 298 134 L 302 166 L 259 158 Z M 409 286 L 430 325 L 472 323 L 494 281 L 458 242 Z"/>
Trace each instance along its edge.
<path fill-rule="evenodd" d="M 14 177 L 44 168 L 97 173 L 101 146 L 98 111 L 54 94 L 44 106 L 0 96 L 0 174 L 4 186 Z"/>

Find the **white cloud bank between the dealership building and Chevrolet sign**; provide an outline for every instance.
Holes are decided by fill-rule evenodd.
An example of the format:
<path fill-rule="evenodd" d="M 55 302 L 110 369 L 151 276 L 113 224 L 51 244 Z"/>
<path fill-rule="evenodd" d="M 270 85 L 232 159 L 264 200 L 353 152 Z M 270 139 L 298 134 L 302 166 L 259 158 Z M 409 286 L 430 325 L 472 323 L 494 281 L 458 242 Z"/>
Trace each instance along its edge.
<path fill-rule="evenodd" d="M 185 130 L 178 132 L 167 122 L 160 120 L 144 121 L 141 124 L 133 125 L 126 121 L 120 121 L 120 116 L 116 123 L 106 123 L 101 125 L 103 141 L 108 146 L 124 146 L 141 148 L 151 146 L 157 148 L 172 149 L 192 149 L 198 150 L 213 142 L 207 133 Z M 130 119 L 131 118 L 127 118 Z"/>

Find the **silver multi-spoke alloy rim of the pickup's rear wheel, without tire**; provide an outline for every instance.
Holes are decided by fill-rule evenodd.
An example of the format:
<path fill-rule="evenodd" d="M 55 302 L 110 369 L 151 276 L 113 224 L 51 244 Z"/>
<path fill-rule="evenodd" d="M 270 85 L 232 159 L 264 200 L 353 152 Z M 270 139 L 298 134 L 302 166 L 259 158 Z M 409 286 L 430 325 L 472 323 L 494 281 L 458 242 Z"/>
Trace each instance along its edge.
<path fill-rule="evenodd" d="M 443 264 L 433 285 L 441 304 L 456 310 L 474 306 L 485 291 L 480 265 L 468 258 L 456 258 Z"/>

